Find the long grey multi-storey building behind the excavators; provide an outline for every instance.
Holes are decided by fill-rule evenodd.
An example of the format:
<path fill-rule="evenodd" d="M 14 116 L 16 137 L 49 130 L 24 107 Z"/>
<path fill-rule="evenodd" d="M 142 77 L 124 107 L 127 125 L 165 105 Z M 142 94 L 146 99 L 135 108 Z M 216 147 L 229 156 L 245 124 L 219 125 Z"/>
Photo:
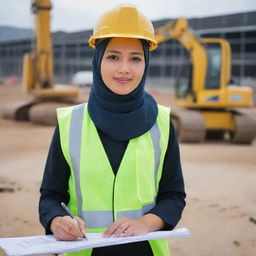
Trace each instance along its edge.
<path fill-rule="evenodd" d="M 170 19 L 171 20 L 171 19 Z M 169 19 L 153 22 L 158 28 Z M 237 13 L 188 19 L 190 27 L 200 37 L 225 38 L 232 49 L 232 80 L 236 84 L 256 84 L 256 12 Z M 57 83 L 70 83 L 74 73 L 91 70 L 93 49 L 87 41 L 91 30 L 74 33 L 53 33 L 54 76 Z M 0 43 L 0 78 L 21 77 L 22 56 L 33 49 L 33 38 Z M 176 40 L 159 45 L 151 54 L 149 83 L 173 85 L 181 65 L 189 54 Z"/>

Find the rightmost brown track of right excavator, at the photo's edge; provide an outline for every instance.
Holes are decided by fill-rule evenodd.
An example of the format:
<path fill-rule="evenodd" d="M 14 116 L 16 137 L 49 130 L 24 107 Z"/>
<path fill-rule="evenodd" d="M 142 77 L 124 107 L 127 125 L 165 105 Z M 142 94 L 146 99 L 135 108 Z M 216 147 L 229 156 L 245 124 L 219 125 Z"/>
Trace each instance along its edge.
<path fill-rule="evenodd" d="M 243 113 L 235 112 L 236 129 L 230 133 L 231 142 L 235 144 L 251 144 L 256 136 L 256 121 Z"/>

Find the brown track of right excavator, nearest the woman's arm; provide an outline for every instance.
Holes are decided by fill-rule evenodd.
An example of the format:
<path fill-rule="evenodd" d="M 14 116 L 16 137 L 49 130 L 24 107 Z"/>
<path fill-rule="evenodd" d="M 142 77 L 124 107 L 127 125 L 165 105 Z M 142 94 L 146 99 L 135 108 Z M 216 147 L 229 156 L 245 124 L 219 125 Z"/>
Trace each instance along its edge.
<path fill-rule="evenodd" d="M 180 142 L 200 143 L 206 136 L 204 118 L 197 110 L 172 108 L 171 118 Z"/>

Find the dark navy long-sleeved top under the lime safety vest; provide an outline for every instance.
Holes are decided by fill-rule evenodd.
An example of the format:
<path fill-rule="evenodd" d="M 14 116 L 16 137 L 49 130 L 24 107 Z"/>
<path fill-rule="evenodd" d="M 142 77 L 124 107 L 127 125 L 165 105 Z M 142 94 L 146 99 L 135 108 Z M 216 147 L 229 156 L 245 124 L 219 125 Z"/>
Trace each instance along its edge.
<path fill-rule="evenodd" d="M 116 175 L 128 141 L 115 141 L 98 129 L 101 142 L 109 162 Z M 55 128 L 45 165 L 41 184 L 39 215 L 46 234 L 51 234 L 51 220 L 56 216 L 65 216 L 60 202 L 69 202 L 68 181 L 70 167 L 66 162 L 60 145 L 58 125 Z M 170 122 L 168 147 L 164 159 L 162 177 L 156 205 L 149 213 L 159 216 L 165 222 L 165 228 L 173 229 L 181 218 L 185 207 L 185 189 L 180 162 L 179 146 L 175 129 Z M 93 249 L 93 256 L 100 255 L 153 255 L 148 242 L 132 243 Z"/>

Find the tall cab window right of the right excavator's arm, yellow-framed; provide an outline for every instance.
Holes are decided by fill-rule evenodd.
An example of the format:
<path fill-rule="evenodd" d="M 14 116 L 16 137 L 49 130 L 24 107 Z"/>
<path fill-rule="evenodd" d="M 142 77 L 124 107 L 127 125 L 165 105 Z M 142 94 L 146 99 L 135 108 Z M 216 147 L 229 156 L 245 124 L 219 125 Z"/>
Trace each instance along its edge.
<path fill-rule="evenodd" d="M 206 44 L 208 67 L 205 89 L 219 89 L 221 75 L 221 46 L 217 43 Z"/>

